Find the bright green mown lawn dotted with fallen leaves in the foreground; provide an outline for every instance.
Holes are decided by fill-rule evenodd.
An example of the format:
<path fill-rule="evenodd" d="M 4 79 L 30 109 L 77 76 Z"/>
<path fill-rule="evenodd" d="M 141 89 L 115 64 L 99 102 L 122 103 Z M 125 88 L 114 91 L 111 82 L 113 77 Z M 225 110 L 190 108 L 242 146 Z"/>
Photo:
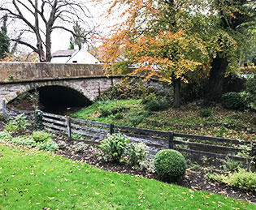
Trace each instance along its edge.
<path fill-rule="evenodd" d="M 0 209 L 255 209 L 237 199 L 0 144 Z"/>

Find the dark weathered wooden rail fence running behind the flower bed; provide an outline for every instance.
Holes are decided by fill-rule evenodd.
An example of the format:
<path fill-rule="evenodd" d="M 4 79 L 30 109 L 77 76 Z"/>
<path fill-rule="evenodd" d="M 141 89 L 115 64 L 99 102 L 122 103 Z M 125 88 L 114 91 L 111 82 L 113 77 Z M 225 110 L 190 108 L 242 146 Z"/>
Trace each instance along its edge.
<path fill-rule="evenodd" d="M 18 114 L 25 114 L 28 116 L 28 119 L 30 122 L 33 122 L 33 111 L 25 111 L 25 110 L 10 110 L 7 109 L 6 102 L 3 101 L 3 114 L 5 116 L 16 116 Z M 43 114 L 43 125 L 45 126 L 46 131 L 53 132 L 55 134 L 59 135 L 66 135 L 70 141 L 82 141 L 85 144 L 100 144 L 100 140 L 98 136 L 95 135 L 95 133 L 98 135 L 98 133 L 102 133 L 102 136 L 115 133 L 115 131 L 121 131 L 122 133 L 133 136 L 136 138 L 148 138 L 154 143 L 147 144 L 149 147 L 156 147 L 156 148 L 163 148 L 163 144 L 159 144 L 159 142 L 165 142 L 167 143 L 166 148 L 170 149 L 176 149 L 180 152 L 187 152 L 189 154 L 197 154 L 200 156 L 212 156 L 212 157 L 230 157 L 237 161 L 246 161 L 244 157 L 241 156 L 232 156 L 227 154 L 227 152 L 242 152 L 245 151 L 241 148 L 235 148 L 230 147 L 227 145 L 215 145 L 215 144 L 209 144 L 210 142 L 216 142 L 221 144 L 235 144 L 237 145 L 250 145 L 251 148 L 248 150 L 251 155 L 251 160 L 255 160 L 256 157 L 254 154 L 256 153 L 256 144 L 251 142 L 245 142 L 237 139 L 224 139 L 219 137 L 211 137 L 211 136 L 202 136 L 202 135 L 189 135 L 189 134 L 180 134 L 173 131 L 157 131 L 157 130 L 150 130 L 150 129 L 144 129 L 144 128 L 136 128 L 131 126 L 118 126 L 114 124 L 107 124 L 102 122 L 91 122 L 76 118 L 68 118 L 64 117 L 62 115 L 58 114 L 50 114 L 46 112 L 42 112 Z M 93 135 L 94 133 L 94 135 Z M 78 134 L 78 135 L 87 135 L 89 137 L 92 137 L 92 139 L 98 140 L 85 140 L 85 139 L 75 139 L 72 138 L 72 134 Z M 91 136 L 90 136 L 91 135 Z M 156 136 L 160 136 L 156 137 Z M 105 138 L 104 137 L 104 138 Z M 189 142 L 184 140 L 176 140 L 175 137 L 180 137 L 184 139 L 200 139 L 201 141 L 206 141 L 205 143 L 197 143 L 197 142 Z M 165 139 L 164 139 L 165 138 Z M 202 148 L 202 150 L 194 150 L 194 149 L 188 149 L 188 148 L 179 148 L 176 145 L 187 145 L 189 147 L 196 146 L 197 148 Z M 204 151 L 204 148 L 213 148 L 213 149 L 219 149 L 220 152 L 206 152 Z M 221 153 L 221 151 L 225 151 L 226 153 Z M 156 152 L 152 152 L 155 154 Z"/>

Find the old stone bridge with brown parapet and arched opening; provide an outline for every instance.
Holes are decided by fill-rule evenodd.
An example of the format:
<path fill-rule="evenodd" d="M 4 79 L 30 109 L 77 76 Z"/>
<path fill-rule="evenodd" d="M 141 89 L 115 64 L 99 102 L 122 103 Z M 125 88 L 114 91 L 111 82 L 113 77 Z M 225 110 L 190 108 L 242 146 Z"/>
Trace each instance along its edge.
<path fill-rule="evenodd" d="M 93 102 L 101 92 L 120 79 L 120 75 L 106 77 L 99 64 L 0 62 L 0 109 L 3 100 L 8 103 L 21 93 L 36 88 L 48 90 L 46 95 L 51 95 L 48 100 L 58 100 L 58 95 L 65 96 L 67 91 L 72 92 L 78 100 L 84 97 Z M 163 88 L 154 80 L 150 81 L 150 85 Z M 61 90 L 61 93 L 52 95 L 57 90 Z M 72 97 L 67 97 L 67 100 L 72 101 Z"/>

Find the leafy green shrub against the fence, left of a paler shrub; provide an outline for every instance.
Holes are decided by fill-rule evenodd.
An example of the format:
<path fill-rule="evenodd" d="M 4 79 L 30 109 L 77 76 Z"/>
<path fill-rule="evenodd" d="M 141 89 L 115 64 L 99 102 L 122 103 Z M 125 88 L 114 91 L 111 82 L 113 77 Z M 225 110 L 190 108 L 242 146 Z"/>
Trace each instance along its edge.
<path fill-rule="evenodd" d="M 103 139 L 100 145 L 102 149 L 100 156 L 102 156 L 105 161 L 124 161 L 122 156 L 127 149 L 129 140 L 126 135 L 120 133 L 108 135 L 107 139 Z"/>

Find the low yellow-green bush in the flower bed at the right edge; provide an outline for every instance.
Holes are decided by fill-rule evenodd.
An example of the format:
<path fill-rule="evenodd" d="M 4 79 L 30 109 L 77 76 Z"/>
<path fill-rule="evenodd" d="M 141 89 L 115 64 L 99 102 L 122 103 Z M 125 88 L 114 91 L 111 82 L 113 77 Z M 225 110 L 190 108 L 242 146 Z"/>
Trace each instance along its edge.
<path fill-rule="evenodd" d="M 238 171 L 228 175 L 206 174 L 206 178 L 226 183 L 229 186 L 236 186 L 247 191 L 256 190 L 256 173 L 247 172 L 245 169 L 239 169 Z"/>

